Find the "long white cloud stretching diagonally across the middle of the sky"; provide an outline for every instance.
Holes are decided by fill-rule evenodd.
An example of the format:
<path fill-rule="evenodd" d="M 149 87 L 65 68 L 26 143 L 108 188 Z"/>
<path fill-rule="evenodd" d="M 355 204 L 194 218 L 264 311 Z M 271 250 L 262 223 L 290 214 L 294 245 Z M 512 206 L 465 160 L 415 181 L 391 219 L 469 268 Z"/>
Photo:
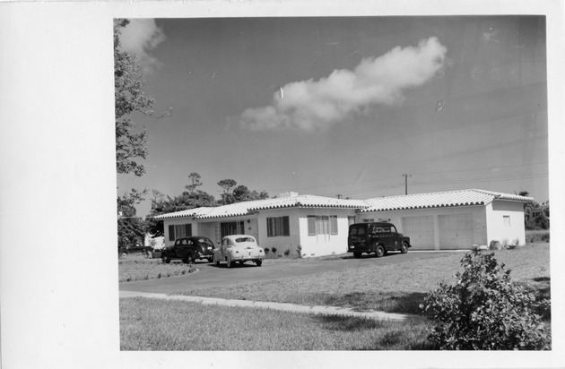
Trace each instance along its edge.
<path fill-rule="evenodd" d="M 272 105 L 246 109 L 239 123 L 251 130 L 324 130 L 376 105 L 404 99 L 403 90 L 428 82 L 443 67 L 447 48 L 436 38 L 418 47 L 395 47 L 361 60 L 353 71 L 335 70 L 319 81 L 291 82 L 274 93 Z"/>

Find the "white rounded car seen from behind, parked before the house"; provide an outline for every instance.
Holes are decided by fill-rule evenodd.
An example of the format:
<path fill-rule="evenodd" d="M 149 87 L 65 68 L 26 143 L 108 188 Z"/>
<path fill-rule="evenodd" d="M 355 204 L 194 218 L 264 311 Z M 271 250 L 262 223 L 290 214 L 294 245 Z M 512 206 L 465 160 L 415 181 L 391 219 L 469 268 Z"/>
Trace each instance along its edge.
<path fill-rule="evenodd" d="M 265 259 L 265 250 L 257 245 L 254 236 L 231 235 L 222 238 L 222 245 L 213 251 L 213 262 L 226 262 L 228 268 L 236 262 L 255 262 L 260 267 Z"/>

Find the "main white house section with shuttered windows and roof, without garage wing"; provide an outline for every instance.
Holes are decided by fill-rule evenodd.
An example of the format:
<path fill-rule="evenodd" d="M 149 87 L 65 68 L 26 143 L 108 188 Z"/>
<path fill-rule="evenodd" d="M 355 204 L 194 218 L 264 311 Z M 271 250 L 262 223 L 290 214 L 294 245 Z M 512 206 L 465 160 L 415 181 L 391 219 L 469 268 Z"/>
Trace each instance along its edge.
<path fill-rule="evenodd" d="M 197 208 L 163 214 L 165 244 L 179 236 L 207 236 L 219 245 L 223 236 L 247 234 L 282 255 L 304 256 L 344 253 L 349 225 L 355 211 L 369 206 L 362 200 L 335 199 L 298 193 L 282 193 L 274 199 L 238 202 L 216 208 Z"/>

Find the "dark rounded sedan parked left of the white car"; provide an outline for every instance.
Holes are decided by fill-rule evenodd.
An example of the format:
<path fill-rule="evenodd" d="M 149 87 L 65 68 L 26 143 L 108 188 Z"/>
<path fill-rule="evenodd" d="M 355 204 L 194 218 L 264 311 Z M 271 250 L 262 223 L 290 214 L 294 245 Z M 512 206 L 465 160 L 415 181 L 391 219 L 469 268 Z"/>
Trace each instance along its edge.
<path fill-rule="evenodd" d="M 167 264 L 173 259 L 180 259 L 187 264 L 201 259 L 212 262 L 213 248 L 213 242 L 208 237 L 181 237 L 171 247 L 161 250 L 161 260 Z"/>

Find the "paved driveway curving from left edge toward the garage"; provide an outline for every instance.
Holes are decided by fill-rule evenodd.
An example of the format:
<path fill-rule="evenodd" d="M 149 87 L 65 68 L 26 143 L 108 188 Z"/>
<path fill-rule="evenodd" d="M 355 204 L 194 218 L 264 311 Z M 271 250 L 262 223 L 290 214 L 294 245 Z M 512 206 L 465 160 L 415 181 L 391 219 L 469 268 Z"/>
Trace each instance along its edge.
<path fill-rule="evenodd" d="M 213 288 L 265 282 L 274 279 L 308 276 L 328 270 L 366 268 L 373 265 L 389 264 L 399 264 L 399 268 L 402 268 L 400 264 L 404 262 L 411 262 L 415 259 L 430 259 L 430 262 L 432 262 L 432 259 L 443 257 L 447 254 L 445 252 L 408 252 L 405 254 L 389 253 L 382 258 L 376 258 L 373 255 L 363 255 L 361 259 L 355 259 L 352 255 L 345 255 L 334 260 L 312 259 L 296 262 L 265 260 L 261 267 L 256 267 L 254 263 L 248 262 L 230 269 L 226 267 L 225 263 L 217 267 L 210 263 L 197 262 L 196 267 L 199 271 L 196 273 L 166 279 L 148 279 L 120 283 L 119 290 L 171 294 L 193 287 Z"/>

